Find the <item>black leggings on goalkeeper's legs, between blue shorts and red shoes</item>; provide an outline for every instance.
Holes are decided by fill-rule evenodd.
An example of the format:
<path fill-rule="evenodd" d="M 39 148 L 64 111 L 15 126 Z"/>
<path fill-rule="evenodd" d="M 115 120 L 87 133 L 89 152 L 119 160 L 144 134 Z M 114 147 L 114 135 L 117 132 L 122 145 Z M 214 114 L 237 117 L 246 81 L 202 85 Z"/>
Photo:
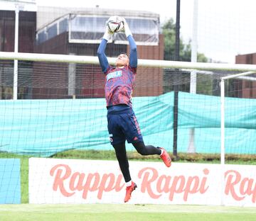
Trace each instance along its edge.
<path fill-rule="evenodd" d="M 132 145 L 135 147 L 137 152 L 142 155 L 154 155 L 154 154 L 161 154 L 161 149 L 154 147 L 152 145 L 144 145 L 144 142 L 136 142 L 132 143 Z M 124 181 L 129 182 L 131 181 L 131 176 L 129 174 L 129 162 L 127 159 L 127 153 L 125 148 L 125 142 L 113 145 L 117 160 L 119 162 L 120 169 L 122 171 L 122 174 L 124 176 Z"/>

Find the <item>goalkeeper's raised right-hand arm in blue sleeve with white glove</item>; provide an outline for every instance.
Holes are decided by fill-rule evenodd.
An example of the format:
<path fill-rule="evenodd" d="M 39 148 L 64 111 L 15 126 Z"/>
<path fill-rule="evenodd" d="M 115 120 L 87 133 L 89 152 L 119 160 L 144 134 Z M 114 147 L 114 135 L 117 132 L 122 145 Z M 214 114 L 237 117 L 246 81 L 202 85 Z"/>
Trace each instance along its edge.
<path fill-rule="evenodd" d="M 124 19 L 124 18 L 123 18 Z M 129 29 L 127 22 L 124 19 L 124 33 L 127 36 L 127 40 L 129 41 L 129 65 L 131 67 L 137 67 L 138 58 L 137 58 L 137 45 L 135 43 L 134 38 L 132 37 L 132 32 Z"/>

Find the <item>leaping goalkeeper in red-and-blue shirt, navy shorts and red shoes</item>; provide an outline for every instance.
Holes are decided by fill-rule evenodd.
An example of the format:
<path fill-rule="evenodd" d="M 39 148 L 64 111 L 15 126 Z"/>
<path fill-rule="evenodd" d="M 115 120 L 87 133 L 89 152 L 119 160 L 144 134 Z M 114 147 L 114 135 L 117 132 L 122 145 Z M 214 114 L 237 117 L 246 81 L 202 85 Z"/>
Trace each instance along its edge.
<path fill-rule="evenodd" d="M 120 169 L 126 183 L 126 195 L 124 203 L 130 198 L 132 191 L 137 188 L 129 173 L 129 163 L 125 149 L 125 140 L 132 143 L 137 152 L 142 155 L 158 154 L 166 166 L 171 166 L 171 158 L 162 147 L 144 145 L 142 133 L 137 118 L 132 110 L 132 90 L 137 72 L 137 46 L 132 33 L 124 18 L 124 33 L 129 41 L 130 52 L 122 52 L 116 60 L 115 67 L 110 66 L 105 55 L 107 41 L 113 33 L 106 26 L 97 56 L 105 74 L 105 98 L 107 101 L 107 128 L 110 134 L 110 142 L 114 147 Z"/>

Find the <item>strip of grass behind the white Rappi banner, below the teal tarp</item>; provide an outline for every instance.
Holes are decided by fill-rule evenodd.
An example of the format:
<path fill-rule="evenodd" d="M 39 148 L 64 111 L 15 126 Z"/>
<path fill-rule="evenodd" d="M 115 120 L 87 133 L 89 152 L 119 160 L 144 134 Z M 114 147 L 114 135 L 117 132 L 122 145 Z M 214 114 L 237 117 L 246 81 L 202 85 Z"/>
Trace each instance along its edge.
<path fill-rule="evenodd" d="M 0 158 L 19 158 L 21 159 L 21 203 L 28 203 L 28 158 L 30 156 L 9 154 L 6 152 L 0 152 Z M 129 160 L 139 161 L 153 161 L 161 162 L 159 156 L 142 156 L 137 152 L 127 152 Z M 53 155 L 51 158 L 61 159 L 102 159 L 102 160 L 117 160 L 114 154 L 114 150 L 100 151 L 100 150 L 68 150 L 65 152 L 59 152 Z M 186 154 L 179 153 L 178 159 L 171 155 L 171 158 L 175 162 L 193 162 L 193 163 L 210 163 L 220 164 L 220 154 Z M 255 155 L 226 155 L 227 164 L 250 164 L 256 165 Z"/>

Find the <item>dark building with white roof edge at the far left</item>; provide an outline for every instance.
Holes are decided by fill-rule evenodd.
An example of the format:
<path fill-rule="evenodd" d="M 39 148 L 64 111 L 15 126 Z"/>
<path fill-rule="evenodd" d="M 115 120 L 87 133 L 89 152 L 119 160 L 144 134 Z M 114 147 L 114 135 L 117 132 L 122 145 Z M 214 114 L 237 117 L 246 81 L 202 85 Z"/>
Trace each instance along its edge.
<path fill-rule="evenodd" d="M 34 0 L 1 1 L 0 51 L 14 52 L 16 11 L 18 11 L 19 18 L 18 52 L 32 53 L 36 42 L 36 2 Z M 24 64 L 25 62 L 23 62 L 23 65 L 18 66 L 18 71 L 31 76 L 33 67 Z M 0 99 L 12 98 L 13 76 L 14 62 L 2 61 L 0 64 Z M 22 79 L 22 74 L 19 79 Z M 27 81 L 26 84 L 31 84 L 31 81 Z M 28 87 L 20 86 L 18 88 L 18 93 L 20 95 L 19 98 L 31 98 L 31 89 Z M 26 95 L 24 95 L 24 93 Z"/>

